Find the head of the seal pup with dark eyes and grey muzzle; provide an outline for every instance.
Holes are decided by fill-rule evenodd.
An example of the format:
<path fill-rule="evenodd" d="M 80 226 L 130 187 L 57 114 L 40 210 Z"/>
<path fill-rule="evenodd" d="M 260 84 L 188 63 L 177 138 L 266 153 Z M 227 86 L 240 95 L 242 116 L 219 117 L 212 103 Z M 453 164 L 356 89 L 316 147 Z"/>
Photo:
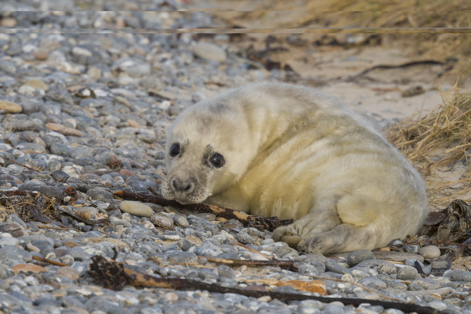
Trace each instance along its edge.
<path fill-rule="evenodd" d="M 247 123 L 232 101 L 217 97 L 195 104 L 168 130 L 164 198 L 200 203 L 244 175 L 253 147 Z"/>

